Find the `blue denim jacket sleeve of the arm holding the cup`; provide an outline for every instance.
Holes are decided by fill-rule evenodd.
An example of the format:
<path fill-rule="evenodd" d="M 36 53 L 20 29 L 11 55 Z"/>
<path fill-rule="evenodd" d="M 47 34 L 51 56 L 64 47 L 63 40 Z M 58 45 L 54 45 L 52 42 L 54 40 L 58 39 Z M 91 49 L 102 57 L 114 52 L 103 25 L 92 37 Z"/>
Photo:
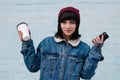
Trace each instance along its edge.
<path fill-rule="evenodd" d="M 40 55 L 39 52 L 35 53 L 33 40 L 22 42 L 22 50 L 24 62 L 30 72 L 37 72 L 40 69 Z"/>

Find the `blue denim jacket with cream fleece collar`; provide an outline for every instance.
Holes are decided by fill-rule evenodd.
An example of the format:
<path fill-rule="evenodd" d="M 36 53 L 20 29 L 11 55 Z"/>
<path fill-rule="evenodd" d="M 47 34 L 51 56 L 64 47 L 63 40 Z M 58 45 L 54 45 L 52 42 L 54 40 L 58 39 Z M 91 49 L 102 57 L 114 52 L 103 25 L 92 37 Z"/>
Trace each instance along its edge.
<path fill-rule="evenodd" d="M 33 40 L 22 43 L 21 53 L 30 72 L 40 70 L 40 80 L 91 79 L 98 62 L 102 59 L 101 49 L 90 47 L 80 41 L 65 41 L 47 37 L 35 51 Z"/>

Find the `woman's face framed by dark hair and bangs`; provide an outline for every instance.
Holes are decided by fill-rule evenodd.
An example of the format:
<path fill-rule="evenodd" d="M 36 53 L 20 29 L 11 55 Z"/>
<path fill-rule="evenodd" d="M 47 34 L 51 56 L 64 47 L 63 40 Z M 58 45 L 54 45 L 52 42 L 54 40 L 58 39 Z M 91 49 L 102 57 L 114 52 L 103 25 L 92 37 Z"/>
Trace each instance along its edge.
<path fill-rule="evenodd" d="M 75 32 L 76 30 L 76 22 L 74 20 L 65 20 L 61 22 L 61 29 L 63 32 L 63 36 L 69 40 L 71 35 Z"/>

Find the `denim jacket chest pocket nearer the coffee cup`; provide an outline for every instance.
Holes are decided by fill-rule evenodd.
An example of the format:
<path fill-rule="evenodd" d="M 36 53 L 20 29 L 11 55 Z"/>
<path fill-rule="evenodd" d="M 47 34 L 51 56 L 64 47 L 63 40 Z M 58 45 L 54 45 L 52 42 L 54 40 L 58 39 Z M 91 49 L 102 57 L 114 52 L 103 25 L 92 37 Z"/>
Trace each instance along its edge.
<path fill-rule="evenodd" d="M 42 54 L 42 68 L 44 72 L 52 73 L 56 69 L 56 63 L 58 61 L 58 53 L 43 53 Z"/>

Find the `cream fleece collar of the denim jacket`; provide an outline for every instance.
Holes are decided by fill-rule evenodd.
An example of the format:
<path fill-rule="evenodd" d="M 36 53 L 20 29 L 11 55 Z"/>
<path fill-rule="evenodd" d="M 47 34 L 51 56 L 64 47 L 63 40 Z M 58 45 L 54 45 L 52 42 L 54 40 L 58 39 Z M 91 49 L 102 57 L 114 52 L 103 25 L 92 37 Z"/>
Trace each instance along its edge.
<path fill-rule="evenodd" d="M 66 42 L 66 40 L 65 39 L 61 39 L 60 37 L 54 37 L 54 40 L 56 41 L 56 42 L 62 42 L 62 41 L 65 41 Z M 73 47 L 76 47 L 76 46 L 78 46 L 79 45 L 79 43 L 80 43 L 80 37 L 78 38 L 78 39 L 75 39 L 75 40 L 69 40 L 69 41 L 67 41 L 67 43 L 69 43 L 70 45 L 72 45 Z"/>

